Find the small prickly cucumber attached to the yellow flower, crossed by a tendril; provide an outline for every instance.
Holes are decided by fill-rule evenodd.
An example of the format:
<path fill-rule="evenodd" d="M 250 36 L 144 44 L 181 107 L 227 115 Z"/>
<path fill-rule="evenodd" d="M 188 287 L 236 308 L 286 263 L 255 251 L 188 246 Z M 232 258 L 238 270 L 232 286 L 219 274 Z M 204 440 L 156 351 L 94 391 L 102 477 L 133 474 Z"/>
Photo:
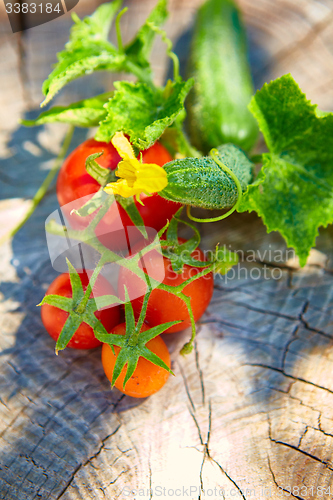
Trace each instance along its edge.
<path fill-rule="evenodd" d="M 239 179 L 242 191 L 246 191 L 252 180 L 253 163 L 233 144 L 220 146 L 218 157 Z M 211 157 L 174 160 L 163 168 L 168 185 L 158 193 L 162 198 L 208 209 L 227 208 L 237 201 L 234 180 Z"/>

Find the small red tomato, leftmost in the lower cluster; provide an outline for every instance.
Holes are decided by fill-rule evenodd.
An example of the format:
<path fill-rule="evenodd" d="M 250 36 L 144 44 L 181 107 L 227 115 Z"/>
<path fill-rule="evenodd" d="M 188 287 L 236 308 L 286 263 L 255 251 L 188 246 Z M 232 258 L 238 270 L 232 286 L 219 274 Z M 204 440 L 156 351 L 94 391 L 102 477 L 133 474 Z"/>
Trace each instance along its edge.
<path fill-rule="evenodd" d="M 89 283 L 88 275 L 81 272 L 79 276 L 83 285 L 83 290 L 85 291 Z M 72 297 L 72 287 L 68 273 L 61 274 L 51 283 L 46 295 L 51 294 Z M 115 295 L 115 291 L 109 282 L 103 276 L 99 275 L 91 296 L 100 297 L 101 295 Z M 41 309 L 42 321 L 47 332 L 54 340 L 58 340 L 65 321 L 68 318 L 68 313 L 55 306 L 50 306 L 49 304 L 43 304 Z M 96 311 L 95 316 L 101 321 L 106 330 L 110 331 L 120 321 L 120 307 L 113 306 L 110 308 L 103 308 Z M 92 349 L 99 345 L 101 345 L 101 342 L 96 339 L 93 329 L 86 323 L 81 323 L 67 347 L 73 347 L 74 349 Z"/>

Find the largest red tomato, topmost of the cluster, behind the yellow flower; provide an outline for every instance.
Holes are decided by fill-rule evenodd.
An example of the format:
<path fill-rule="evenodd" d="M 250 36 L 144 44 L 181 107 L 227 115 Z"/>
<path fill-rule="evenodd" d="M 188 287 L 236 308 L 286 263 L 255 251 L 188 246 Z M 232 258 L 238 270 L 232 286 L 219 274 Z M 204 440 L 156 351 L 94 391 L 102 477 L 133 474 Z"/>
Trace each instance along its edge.
<path fill-rule="evenodd" d="M 57 181 L 58 201 L 66 218 L 70 221 L 74 229 L 86 227 L 92 218 L 92 216 L 82 218 L 75 214 L 70 215 L 70 212 L 73 208 L 78 209 L 82 206 L 83 202 L 80 198 L 84 196 L 91 197 L 100 188 L 98 182 L 85 169 L 86 158 L 100 151 L 104 151 L 104 154 L 98 158 L 98 163 L 104 168 L 115 170 L 121 158 L 114 146 L 111 143 L 88 139 L 68 156 L 59 172 Z M 171 160 L 172 157 L 168 151 L 158 142 L 142 152 L 142 161 L 146 163 L 156 163 L 163 166 Z M 152 196 L 142 194 L 140 199 L 144 205 L 141 205 L 137 201 L 135 203 L 144 225 L 147 228 L 154 228 L 157 231 L 162 229 L 167 220 L 170 220 L 173 214 L 181 207 L 180 203 L 165 200 L 158 196 L 157 193 Z M 77 203 L 75 203 L 75 200 L 77 200 Z M 71 205 L 66 209 L 68 203 Z M 119 215 L 121 225 L 119 224 Z M 96 235 L 104 245 L 111 249 L 117 249 L 118 247 L 127 248 L 127 239 L 123 234 L 123 226 L 134 226 L 134 224 L 119 203 L 114 203 L 98 224 Z M 116 233 L 112 235 L 115 231 Z M 133 243 L 140 239 L 140 234 L 138 230 L 132 228 L 130 242 Z M 113 242 L 112 240 L 117 241 Z"/>

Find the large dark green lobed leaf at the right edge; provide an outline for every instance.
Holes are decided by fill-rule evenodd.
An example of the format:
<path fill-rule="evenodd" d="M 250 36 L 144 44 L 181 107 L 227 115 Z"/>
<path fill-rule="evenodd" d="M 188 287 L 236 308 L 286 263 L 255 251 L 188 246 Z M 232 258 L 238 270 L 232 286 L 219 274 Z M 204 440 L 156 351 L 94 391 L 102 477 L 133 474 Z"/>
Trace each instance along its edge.
<path fill-rule="evenodd" d="M 318 113 L 291 75 L 265 84 L 250 110 L 269 153 L 239 211 L 254 210 L 268 232 L 280 231 L 303 266 L 318 228 L 333 221 L 333 114 Z"/>

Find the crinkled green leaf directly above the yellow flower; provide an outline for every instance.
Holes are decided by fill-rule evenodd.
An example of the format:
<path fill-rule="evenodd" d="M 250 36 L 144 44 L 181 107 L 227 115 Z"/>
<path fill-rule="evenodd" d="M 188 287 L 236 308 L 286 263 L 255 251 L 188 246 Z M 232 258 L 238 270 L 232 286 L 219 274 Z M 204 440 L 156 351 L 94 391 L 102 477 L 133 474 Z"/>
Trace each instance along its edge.
<path fill-rule="evenodd" d="M 182 112 L 192 84 L 192 80 L 184 82 L 178 78 L 165 89 L 152 89 L 142 82 L 115 82 L 116 92 L 105 105 L 108 114 L 100 124 L 96 140 L 109 142 L 116 132 L 122 131 L 134 146 L 149 148 Z"/>

